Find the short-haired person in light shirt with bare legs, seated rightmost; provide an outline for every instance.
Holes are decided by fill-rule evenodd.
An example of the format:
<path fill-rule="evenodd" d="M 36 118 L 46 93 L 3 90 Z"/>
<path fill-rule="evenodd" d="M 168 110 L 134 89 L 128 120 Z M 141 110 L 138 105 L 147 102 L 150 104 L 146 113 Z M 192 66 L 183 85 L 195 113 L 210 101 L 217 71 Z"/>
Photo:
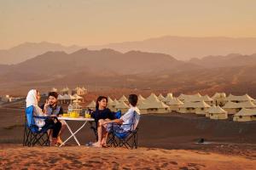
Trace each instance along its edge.
<path fill-rule="evenodd" d="M 112 124 L 111 123 L 118 123 L 119 130 L 128 131 L 131 129 L 129 126 L 122 126 L 122 124 L 131 124 L 133 117 L 134 117 L 134 111 L 137 112 L 138 115 L 140 115 L 140 111 L 137 108 L 137 95 L 136 94 L 130 94 L 129 95 L 129 105 L 130 109 L 125 113 L 124 116 L 121 116 L 119 119 L 100 119 L 98 122 L 98 141 L 96 143 L 93 143 L 92 146 L 96 147 L 104 147 L 107 146 L 106 141 L 108 138 L 108 132 L 111 130 Z M 135 124 L 138 123 L 138 117 L 136 117 Z"/>

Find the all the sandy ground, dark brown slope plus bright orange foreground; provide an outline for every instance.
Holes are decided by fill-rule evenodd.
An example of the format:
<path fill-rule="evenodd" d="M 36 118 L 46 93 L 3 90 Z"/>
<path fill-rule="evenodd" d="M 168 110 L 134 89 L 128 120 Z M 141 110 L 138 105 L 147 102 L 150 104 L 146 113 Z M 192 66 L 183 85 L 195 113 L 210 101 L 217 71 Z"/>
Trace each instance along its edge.
<path fill-rule="evenodd" d="M 212 121 L 195 115 L 145 115 L 137 150 L 88 148 L 86 125 L 65 147 L 23 147 L 24 112 L 0 109 L 0 169 L 256 169 L 256 122 Z M 73 129 L 80 125 L 70 122 Z M 66 131 L 63 139 L 70 134 Z M 204 138 L 207 144 L 195 144 Z"/>

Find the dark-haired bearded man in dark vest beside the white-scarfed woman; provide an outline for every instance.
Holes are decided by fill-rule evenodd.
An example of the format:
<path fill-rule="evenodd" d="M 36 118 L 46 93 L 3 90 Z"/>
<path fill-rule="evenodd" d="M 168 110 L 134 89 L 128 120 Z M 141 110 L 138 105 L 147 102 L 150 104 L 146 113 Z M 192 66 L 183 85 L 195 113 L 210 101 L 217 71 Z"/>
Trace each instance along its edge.
<path fill-rule="evenodd" d="M 41 109 L 48 116 L 63 116 L 63 109 L 61 105 L 58 105 L 58 94 L 56 92 L 49 92 L 48 99 L 46 99 L 44 105 L 41 105 Z M 57 137 L 57 144 L 62 144 L 61 134 L 63 133 L 67 125 L 63 121 L 58 120 L 58 122 L 61 122 L 61 130 Z M 52 139 L 52 135 L 50 135 L 50 139 Z"/>

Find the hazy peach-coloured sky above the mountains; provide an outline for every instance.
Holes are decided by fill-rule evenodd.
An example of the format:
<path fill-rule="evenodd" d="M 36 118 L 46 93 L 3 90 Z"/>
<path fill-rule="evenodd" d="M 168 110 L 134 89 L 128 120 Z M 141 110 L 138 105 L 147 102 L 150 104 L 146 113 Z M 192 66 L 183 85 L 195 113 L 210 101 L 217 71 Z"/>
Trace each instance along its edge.
<path fill-rule="evenodd" d="M 256 0 L 0 0 L 0 48 L 150 37 L 256 37 Z"/>

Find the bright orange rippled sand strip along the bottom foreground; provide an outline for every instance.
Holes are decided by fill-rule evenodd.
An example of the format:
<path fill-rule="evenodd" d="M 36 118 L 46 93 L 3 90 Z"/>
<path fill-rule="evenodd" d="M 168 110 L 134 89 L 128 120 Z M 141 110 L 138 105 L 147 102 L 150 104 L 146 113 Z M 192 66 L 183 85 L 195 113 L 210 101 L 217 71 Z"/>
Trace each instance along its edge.
<path fill-rule="evenodd" d="M 1 169 L 256 169 L 256 159 L 199 150 L 0 145 Z"/>

